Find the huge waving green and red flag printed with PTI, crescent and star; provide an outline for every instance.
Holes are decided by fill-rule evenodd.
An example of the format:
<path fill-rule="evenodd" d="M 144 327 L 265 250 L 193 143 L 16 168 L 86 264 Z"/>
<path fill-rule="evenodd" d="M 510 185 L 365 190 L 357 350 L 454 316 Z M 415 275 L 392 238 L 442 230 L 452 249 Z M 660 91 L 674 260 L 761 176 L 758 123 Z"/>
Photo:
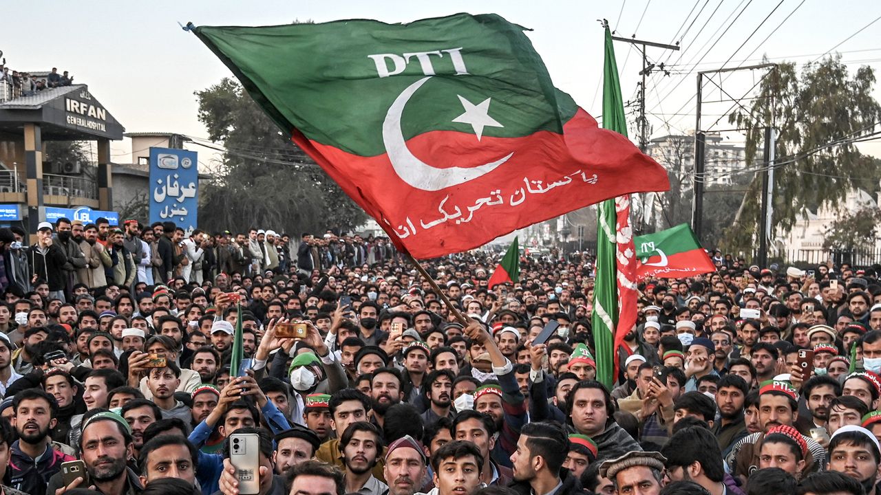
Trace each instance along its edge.
<path fill-rule="evenodd" d="M 416 258 L 670 187 L 557 90 L 524 28 L 498 15 L 189 28 Z"/>

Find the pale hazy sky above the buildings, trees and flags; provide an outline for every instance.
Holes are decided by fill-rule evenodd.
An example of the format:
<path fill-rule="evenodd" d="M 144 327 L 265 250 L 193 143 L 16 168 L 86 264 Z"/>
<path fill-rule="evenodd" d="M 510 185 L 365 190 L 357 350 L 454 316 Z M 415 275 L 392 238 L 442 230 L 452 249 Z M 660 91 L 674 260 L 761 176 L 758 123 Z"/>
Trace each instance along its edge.
<path fill-rule="evenodd" d="M 750 65 L 759 63 L 762 55 L 772 62 L 806 63 L 833 48 L 841 52 L 852 71 L 862 64 L 881 68 L 881 21 L 845 41 L 881 16 L 881 4 L 877 0 L 848 0 L 834 3 L 834 9 L 831 5 L 827 0 L 153 0 L 58 2 L 48 8 L 41 2 L 12 2 L 4 5 L 4 18 L 19 20 L 4 23 L 0 49 L 14 70 L 70 70 L 75 83 L 88 85 L 128 132 L 206 137 L 204 126 L 196 118 L 193 92 L 231 74 L 196 36 L 181 30 L 179 22 L 262 26 L 307 19 L 325 22 L 374 18 L 393 23 L 456 12 L 497 13 L 532 29 L 529 38 L 542 55 L 554 84 L 572 94 L 591 115 L 600 115 L 603 29 L 596 19 L 606 18 L 618 36 L 635 35 L 640 40 L 661 43 L 681 41 L 680 52 L 648 48 L 649 59 L 666 62 L 670 70 L 669 77 L 656 75 L 647 84 L 652 136 L 660 137 L 694 129 L 695 68 Z M 696 18 L 699 11 L 700 17 Z M 616 42 L 615 49 L 622 93 L 625 100 L 633 100 L 640 80 L 640 54 L 628 43 Z M 732 73 L 722 81 L 724 92 L 708 83 L 706 100 L 726 99 L 726 92 L 740 97 L 762 74 L 753 70 Z M 881 100 L 878 87 L 874 94 Z M 714 95 L 716 98 L 712 98 Z M 721 117 L 732 105 L 730 101 L 705 103 L 703 112 L 707 116 L 702 127 L 707 129 L 705 126 L 717 120 L 714 129 L 729 127 Z M 631 134 L 633 137 L 633 131 Z M 737 134 L 726 137 L 732 142 L 742 140 Z M 192 149 L 208 152 L 199 147 Z M 877 141 L 862 144 L 861 149 L 881 157 L 881 143 Z M 130 162 L 130 151 L 128 139 L 115 142 L 113 160 Z"/>

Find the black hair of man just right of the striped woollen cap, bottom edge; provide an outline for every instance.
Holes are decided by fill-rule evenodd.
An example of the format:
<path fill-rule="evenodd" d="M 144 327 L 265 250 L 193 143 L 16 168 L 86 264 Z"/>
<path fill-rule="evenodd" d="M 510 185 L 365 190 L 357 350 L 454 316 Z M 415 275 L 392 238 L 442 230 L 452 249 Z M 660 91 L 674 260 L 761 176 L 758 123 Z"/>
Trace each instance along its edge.
<path fill-rule="evenodd" d="M 700 462 L 704 475 L 715 483 L 725 477 L 722 466 L 722 450 L 715 435 L 706 428 L 690 426 L 679 430 L 670 437 L 661 454 L 667 458 L 667 467 L 685 468 L 694 462 Z"/>

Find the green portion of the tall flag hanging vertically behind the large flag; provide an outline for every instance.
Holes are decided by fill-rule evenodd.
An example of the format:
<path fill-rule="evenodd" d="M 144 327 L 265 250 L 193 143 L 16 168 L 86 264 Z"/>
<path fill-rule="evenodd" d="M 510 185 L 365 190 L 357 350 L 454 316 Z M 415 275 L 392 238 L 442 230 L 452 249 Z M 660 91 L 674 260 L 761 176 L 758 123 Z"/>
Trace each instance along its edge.
<path fill-rule="evenodd" d="M 611 32 L 605 28 L 603 64 L 603 128 L 627 136 L 624 100 L 618 82 L 618 64 Z M 600 203 L 596 211 L 596 280 L 591 325 L 596 351 L 596 380 L 611 388 L 615 382 L 615 327 L 618 323 L 618 268 L 615 262 L 615 200 Z"/>

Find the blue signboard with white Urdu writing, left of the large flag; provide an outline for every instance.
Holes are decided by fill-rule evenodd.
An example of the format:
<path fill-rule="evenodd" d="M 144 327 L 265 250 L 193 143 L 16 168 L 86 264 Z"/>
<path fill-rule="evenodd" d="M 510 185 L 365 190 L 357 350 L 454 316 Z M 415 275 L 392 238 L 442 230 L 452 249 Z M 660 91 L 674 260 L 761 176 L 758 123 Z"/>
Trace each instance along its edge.
<path fill-rule="evenodd" d="M 196 151 L 150 148 L 150 223 L 196 228 L 199 172 Z"/>

